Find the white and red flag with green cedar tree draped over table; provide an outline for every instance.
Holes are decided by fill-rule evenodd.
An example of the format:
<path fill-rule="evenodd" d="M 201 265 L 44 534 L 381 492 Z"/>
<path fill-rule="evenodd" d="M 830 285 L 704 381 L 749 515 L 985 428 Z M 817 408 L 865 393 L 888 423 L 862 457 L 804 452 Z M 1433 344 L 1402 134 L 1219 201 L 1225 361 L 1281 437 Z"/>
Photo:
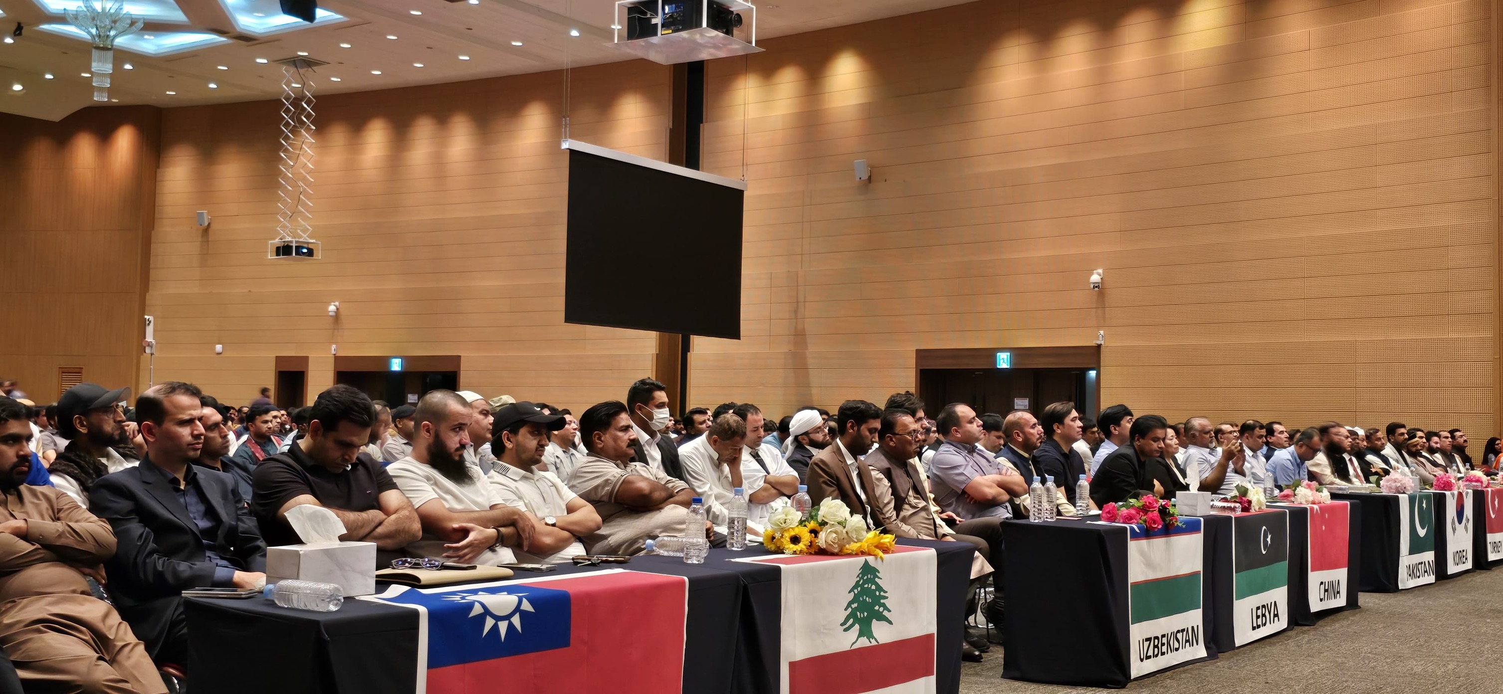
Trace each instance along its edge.
<path fill-rule="evenodd" d="M 785 694 L 935 691 L 935 551 L 765 556 L 783 568 Z"/>

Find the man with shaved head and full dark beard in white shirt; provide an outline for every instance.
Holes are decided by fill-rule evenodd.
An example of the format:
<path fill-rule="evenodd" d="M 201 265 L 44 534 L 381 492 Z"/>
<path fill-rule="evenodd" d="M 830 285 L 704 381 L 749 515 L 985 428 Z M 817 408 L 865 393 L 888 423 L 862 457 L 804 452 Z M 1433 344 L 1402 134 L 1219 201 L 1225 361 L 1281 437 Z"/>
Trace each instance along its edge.
<path fill-rule="evenodd" d="M 528 550 L 532 521 L 485 481 L 478 464 L 464 460 L 473 451 L 476 412 L 491 421 L 490 403 L 476 409 L 454 391 L 430 391 L 413 415 L 412 454 L 386 472 L 418 511 L 422 538 L 406 547 L 419 557 L 494 566 L 516 562 L 513 548 Z M 487 439 L 490 433 L 485 434 Z"/>

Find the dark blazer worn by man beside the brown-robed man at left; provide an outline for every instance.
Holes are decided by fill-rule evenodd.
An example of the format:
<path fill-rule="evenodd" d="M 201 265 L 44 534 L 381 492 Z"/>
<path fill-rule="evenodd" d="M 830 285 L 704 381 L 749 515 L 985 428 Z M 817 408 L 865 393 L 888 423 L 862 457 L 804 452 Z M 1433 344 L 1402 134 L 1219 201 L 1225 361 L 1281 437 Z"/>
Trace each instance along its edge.
<path fill-rule="evenodd" d="M 105 568 L 110 596 L 137 637 L 156 652 L 168 622 L 180 613 L 182 592 L 213 586 L 215 563 L 204 554 L 204 539 L 177 500 L 171 485 L 147 469 L 149 460 L 95 481 L 89 512 L 110 521 L 116 553 Z M 256 517 L 240 499 L 234 478 L 207 467 L 192 467 L 210 511 L 219 518 L 212 538 L 215 551 L 237 560 L 243 571 L 266 571 L 266 542 Z"/>

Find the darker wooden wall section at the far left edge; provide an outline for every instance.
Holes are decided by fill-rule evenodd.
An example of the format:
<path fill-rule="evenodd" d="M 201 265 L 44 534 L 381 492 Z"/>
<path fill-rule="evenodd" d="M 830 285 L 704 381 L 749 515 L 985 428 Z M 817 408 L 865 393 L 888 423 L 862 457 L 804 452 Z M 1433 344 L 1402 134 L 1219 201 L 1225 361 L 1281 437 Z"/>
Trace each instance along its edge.
<path fill-rule="evenodd" d="M 84 108 L 62 122 L 0 114 L 0 377 L 57 401 L 59 367 L 137 382 L 161 111 Z"/>

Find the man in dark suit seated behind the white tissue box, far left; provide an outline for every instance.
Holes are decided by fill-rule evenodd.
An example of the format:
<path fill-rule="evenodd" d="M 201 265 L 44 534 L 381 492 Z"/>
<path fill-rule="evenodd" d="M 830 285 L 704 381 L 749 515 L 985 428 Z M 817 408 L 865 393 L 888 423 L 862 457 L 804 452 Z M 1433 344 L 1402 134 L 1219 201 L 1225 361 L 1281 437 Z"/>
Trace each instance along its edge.
<path fill-rule="evenodd" d="M 114 529 L 114 607 L 156 662 L 188 661 L 183 590 L 266 584 L 266 542 L 234 478 L 192 464 L 204 439 L 200 395 L 179 382 L 143 392 L 146 457 L 89 491 L 90 511 Z"/>

